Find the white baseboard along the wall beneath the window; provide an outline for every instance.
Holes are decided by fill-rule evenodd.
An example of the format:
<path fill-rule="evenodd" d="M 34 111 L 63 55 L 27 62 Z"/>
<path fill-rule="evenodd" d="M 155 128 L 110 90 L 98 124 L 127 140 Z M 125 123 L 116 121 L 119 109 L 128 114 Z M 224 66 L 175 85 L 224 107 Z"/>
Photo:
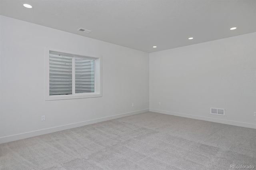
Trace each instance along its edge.
<path fill-rule="evenodd" d="M 6 142 L 11 142 L 11 141 L 14 141 L 14 140 L 20 140 L 20 139 L 24 139 L 24 138 L 39 136 L 39 135 L 42 135 L 42 134 L 58 132 L 58 131 L 66 130 L 66 129 L 70 129 L 70 128 L 82 127 L 82 126 L 85 126 L 85 125 L 90 125 L 90 124 L 99 123 L 99 122 L 103 122 L 103 121 L 108 121 L 108 120 L 112 120 L 112 119 L 118 119 L 118 118 L 121 118 L 121 117 L 136 115 L 136 114 L 144 113 L 144 112 L 148 112 L 148 111 L 149 111 L 149 109 L 144 109 L 144 110 L 140 110 L 140 111 L 122 113 L 122 114 L 119 114 L 119 115 L 114 115 L 114 116 L 109 116 L 109 117 L 102 117 L 102 118 L 99 118 L 99 119 L 93 119 L 93 120 L 89 120 L 89 121 L 72 123 L 72 124 L 69 124 L 69 125 L 63 125 L 63 126 L 58 126 L 58 127 L 35 130 L 35 131 L 31 131 L 31 132 L 14 134 L 14 135 L 10 135 L 10 136 L 4 136 L 4 137 L 0 138 L 0 144 L 1 143 L 6 143 Z"/>

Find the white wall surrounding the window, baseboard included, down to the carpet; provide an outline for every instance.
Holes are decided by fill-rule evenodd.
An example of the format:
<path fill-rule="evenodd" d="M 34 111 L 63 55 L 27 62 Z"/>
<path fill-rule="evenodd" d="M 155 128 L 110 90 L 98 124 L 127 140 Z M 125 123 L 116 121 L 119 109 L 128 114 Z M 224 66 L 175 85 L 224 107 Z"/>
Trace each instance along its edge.
<path fill-rule="evenodd" d="M 0 24 L 0 143 L 148 111 L 148 53 L 5 16 Z M 45 101 L 46 46 L 102 55 L 102 97 Z"/>

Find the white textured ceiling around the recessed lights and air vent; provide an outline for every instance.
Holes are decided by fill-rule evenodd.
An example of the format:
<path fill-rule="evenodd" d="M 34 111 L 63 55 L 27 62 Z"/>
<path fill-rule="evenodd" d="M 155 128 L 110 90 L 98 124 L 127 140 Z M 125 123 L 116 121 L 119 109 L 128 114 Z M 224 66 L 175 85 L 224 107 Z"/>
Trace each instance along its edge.
<path fill-rule="evenodd" d="M 256 32 L 256 0 L 0 0 L 0 15 L 146 52 Z"/>

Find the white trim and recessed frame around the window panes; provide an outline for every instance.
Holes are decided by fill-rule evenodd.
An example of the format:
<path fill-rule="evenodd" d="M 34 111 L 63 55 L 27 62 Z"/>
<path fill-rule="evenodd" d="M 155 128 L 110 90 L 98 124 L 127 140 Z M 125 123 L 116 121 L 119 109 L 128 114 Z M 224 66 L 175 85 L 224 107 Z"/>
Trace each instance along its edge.
<path fill-rule="evenodd" d="M 49 54 L 50 51 L 57 52 L 63 55 L 72 55 L 73 57 L 80 57 L 86 59 L 93 59 L 95 64 L 94 69 L 94 93 L 75 93 L 72 95 L 51 95 L 50 96 L 50 77 L 49 77 Z M 61 52 L 60 52 L 61 51 Z M 73 69 L 73 68 L 72 68 Z M 74 79 L 74 77 L 73 77 Z M 74 85 L 74 84 L 73 84 Z M 74 90 L 74 89 L 72 89 Z M 65 99 L 82 99 L 82 98 L 92 98 L 92 97 L 102 97 L 102 56 L 92 57 L 92 55 L 81 55 L 75 54 L 73 51 L 66 51 L 62 49 L 54 49 L 50 47 L 45 47 L 45 100 L 65 100 Z"/>

